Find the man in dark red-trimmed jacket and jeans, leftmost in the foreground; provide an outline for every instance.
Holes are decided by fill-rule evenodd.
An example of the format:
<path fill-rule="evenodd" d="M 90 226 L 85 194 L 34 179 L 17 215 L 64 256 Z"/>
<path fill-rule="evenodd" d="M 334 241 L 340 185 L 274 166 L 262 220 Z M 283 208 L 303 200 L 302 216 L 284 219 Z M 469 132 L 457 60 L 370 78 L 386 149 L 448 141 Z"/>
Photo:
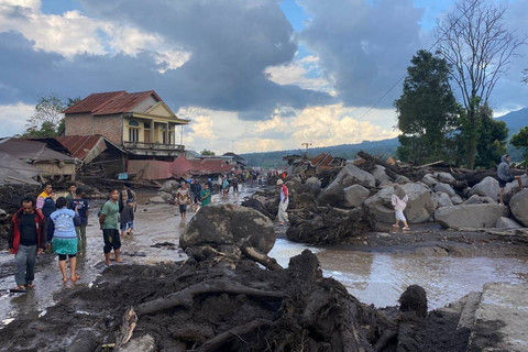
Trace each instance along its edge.
<path fill-rule="evenodd" d="M 13 293 L 23 293 L 28 287 L 35 286 L 36 256 L 44 253 L 47 232 L 46 219 L 41 210 L 35 208 L 31 197 L 22 199 L 21 208 L 13 215 L 13 226 L 9 233 L 9 253 L 14 254 L 16 286 Z"/>

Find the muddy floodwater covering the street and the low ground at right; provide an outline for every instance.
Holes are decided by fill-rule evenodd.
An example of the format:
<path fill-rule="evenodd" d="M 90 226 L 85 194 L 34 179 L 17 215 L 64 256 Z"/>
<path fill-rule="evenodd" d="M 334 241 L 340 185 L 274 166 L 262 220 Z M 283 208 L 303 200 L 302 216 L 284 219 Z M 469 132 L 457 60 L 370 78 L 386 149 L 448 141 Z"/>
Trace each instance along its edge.
<path fill-rule="evenodd" d="M 240 202 L 255 188 L 242 189 L 234 198 L 221 198 L 215 195 L 213 202 Z M 154 264 L 160 262 L 183 261 L 185 253 L 178 248 L 178 238 L 185 229 L 176 206 L 145 205 L 147 195 L 142 195 L 135 213 L 135 233 L 122 241 L 123 264 Z M 92 209 L 97 209 L 94 205 Z M 92 210 L 92 215 L 97 210 Z M 189 212 L 189 219 L 194 212 Z M 10 274 L 13 256 L 0 253 L 0 321 L 9 323 L 12 318 L 34 310 L 45 314 L 46 307 L 54 305 L 54 295 L 63 289 L 86 287 L 105 270 L 102 239 L 96 217 L 89 220 L 87 228 L 89 251 L 78 260 L 80 282 L 62 284 L 56 257 L 41 256 L 35 274 L 36 288 L 28 294 L 9 294 L 14 286 Z M 429 309 L 443 307 L 473 290 L 481 290 L 485 283 L 528 282 L 528 258 L 517 257 L 453 257 L 430 256 L 416 253 L 375 253 L 354 252 L 338 249 L 323 249 L 294 243 L 278 239 L 270 253 L 283 266 L 289 258 L 305 249 L 315 252 L 320 261 L 324 276 L 341 282 L 350 294 L 365 304 L 376 307 L 397 305 L 399 295 L 411 284 L 422 286 L 428 295 Z"/>

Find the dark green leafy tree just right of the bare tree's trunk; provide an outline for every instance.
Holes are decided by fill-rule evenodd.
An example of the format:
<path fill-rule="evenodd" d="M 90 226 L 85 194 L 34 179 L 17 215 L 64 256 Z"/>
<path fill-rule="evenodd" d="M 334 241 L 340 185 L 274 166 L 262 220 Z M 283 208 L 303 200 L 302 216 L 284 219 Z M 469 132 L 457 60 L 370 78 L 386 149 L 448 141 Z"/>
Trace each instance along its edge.
<path fill-rule="evenodd" d="M 508 128 L 506 122 L 493 119 L 493 111 L 487 106 L 479 109 L 479 120 L 475 166 L 491 168 L 496 166 L 501 156 L 507 153 Z"/>

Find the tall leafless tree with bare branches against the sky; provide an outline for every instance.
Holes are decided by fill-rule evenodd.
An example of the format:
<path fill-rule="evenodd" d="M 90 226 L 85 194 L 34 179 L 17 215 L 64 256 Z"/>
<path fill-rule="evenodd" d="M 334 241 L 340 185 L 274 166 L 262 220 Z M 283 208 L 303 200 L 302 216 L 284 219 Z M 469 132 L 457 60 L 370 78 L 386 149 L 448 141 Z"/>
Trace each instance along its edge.
<path fill-rule="evenodd" d="M 439 51 L 453 66 L 466 110 L 461 129 L 465 164 L 473 168 L 479 145 L 479 109 L 487 106 L 501 76 L 506 73 L 526 37 L 517 37 L 505 25 L 506 9 L 479 0 L 460 0 L 437 29 Z"/>

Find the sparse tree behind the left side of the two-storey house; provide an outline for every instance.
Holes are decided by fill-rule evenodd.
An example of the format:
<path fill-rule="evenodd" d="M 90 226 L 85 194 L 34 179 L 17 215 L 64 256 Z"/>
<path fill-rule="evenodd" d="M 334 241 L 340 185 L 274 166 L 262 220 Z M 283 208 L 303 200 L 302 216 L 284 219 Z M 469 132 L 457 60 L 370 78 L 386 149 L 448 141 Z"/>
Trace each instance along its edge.
<path fill-rule="evenodd" d="M 22 136 L 52 138 L 63 134 L 65 121 L 62 111 L 77 101 L 80 101 L 80 98 L 67 98 L 63 101 L 55 94 L 38 97 L 35 112 L 28 119 Z"/>

